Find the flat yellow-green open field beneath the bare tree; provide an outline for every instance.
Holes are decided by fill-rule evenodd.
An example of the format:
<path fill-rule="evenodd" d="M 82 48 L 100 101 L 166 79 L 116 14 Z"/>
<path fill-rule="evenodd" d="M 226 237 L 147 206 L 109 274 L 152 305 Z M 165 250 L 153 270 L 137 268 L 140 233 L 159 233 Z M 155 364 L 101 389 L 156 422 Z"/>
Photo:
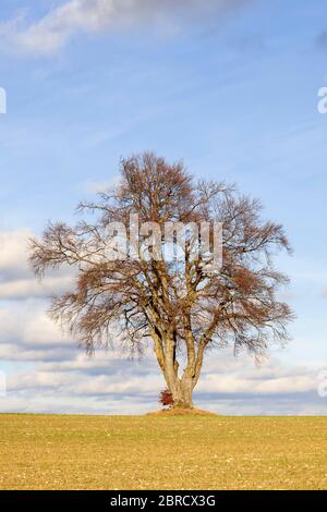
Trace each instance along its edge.
<path fill-rule="evenodd" d="M 0 415 L 1 489 L 327 489 L 327 417 Z"/>

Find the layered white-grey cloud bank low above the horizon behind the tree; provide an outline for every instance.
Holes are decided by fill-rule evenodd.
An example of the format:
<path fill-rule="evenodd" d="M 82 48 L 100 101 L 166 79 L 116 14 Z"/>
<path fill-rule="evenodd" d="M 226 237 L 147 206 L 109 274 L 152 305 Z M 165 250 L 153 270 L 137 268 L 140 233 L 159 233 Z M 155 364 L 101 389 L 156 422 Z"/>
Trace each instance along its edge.
<path fill-rule="evenodd" d="M 1 412 L 140 414 L 158 407 L 164 379 L 149 348 L 142 362 L 118 350 L 93 358 L 46 315 L 47 295 L 69 287 L 69 275 L 43 289 L 26 264 L 27 229 L 0 232 L 0 371 L 7 375 Z M 117 348 L 118 349 L 118 348 Z M 195 403 L 222 414 L 327 414 L 317 366 L 272 357 L 255 366 L 245 354 L 210 352 Z"/>

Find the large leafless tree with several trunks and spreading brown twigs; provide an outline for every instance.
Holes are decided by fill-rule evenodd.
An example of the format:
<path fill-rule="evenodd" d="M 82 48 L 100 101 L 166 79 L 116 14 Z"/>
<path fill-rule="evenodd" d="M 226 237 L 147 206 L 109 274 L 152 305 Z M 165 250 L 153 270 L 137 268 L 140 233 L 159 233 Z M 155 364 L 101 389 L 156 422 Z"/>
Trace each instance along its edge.
<path fill-rule="evenodd" d="M 257 200 L 223 183 L 196 183 L 183 163 L 169 164 L 150 153 L 123 159 L 120 182 L 98 196 L 80 204 L 84 220 L 75 227 L 50 223 L 32 241 L 29 258 L 40 278 L 49 268 L 76 268 L 74 290 L 53 298 L 50 313 L 87 353 L 113 341 L 142 352 L 150 341 L 173 406 L 192 407 L 208 349 L 232 344 L 257 356 L 269 342 L 288 339 L 292 313 L 276 296 L 288 278 L 274 268 L 272 257 L 276 249 L 290 251 L 289 243 L 281 225 L 261 219 Z M 123 224 L 132 237 L 135 214 L 140 225 L 162 229 L 160 243 L 150 243 L 154 229 L 143 230 L 138 246 L 130 243 L 122 257 L 121 233 L 108 227 Z M 201 234 L 185 235 L 182 257 L 160 258 L 167 223 L 203 221 L 222 223 L 219 269 L 213 271 L 213 258 L 193 251 Z"/>

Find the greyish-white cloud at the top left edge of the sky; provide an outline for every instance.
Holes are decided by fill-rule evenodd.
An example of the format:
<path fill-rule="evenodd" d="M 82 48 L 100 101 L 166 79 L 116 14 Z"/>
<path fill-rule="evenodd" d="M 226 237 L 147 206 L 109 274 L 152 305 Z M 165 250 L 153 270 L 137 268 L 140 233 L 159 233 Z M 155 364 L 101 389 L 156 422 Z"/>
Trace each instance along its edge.
<path fill-rule="evenodd" d="M 175 15 L 220 16 L 247 3 L 246 0 L 69 0 L 27 26 L 22 16 L 0 24 L 0 36 L 17 50 L 49 54 L 64 47 L 76 33 L 97 34 L 140 23 L 164 24 Z"/>

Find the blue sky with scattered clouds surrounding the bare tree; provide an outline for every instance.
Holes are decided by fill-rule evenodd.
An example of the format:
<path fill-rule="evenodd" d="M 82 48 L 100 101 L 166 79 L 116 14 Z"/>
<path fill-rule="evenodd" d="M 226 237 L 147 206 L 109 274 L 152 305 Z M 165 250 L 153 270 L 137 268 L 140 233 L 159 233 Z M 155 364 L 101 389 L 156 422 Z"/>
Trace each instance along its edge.
<path fill-rule="evenodd" d="M 110 371 L 101 365 L 95 371 L 95 361 L 84 359 L 83 370 L 76 369 L 83 354 L 44 318 L 47 294 L 64 288 L 69 277 L 37 288 L 25 266 L 24 242 L 48 219 L 73 220 L 77 202 L 114 179 L 121 156 L 154 149 L 170 160 L 183 158 L 197 176 L 237 182 L 259 197 L 265 215 L 286 225 L 294 248 L 292 258 L 279 261 L 292 279 L 284 295 L 298 316 L 293 341 L 272 350 L 267 375 L 259 368 L 257 378 L 267 387 L 286 378 L 281 374 L 292 381 L 295 371 L 307 386 L 299 380 L 290 391 L 284 382 L 282 390 L 278 381 L 277 394 L 272 385 L 270 394 L 258 391 L 252 363 L 217 354 L 234 365 L 230 375 L 240 387 L 226 393 L 219 382 L 208 385 L 198 401 L 230 414 L 326 414 L 327 399 L 317 397 L 316 387 L 327 365 L 327 114 L 317 110 L 317 92 L 327 86 L 327 5 L 31 3 L 2 0 L 0 12 L 0 87 L 8 94 L 8 113 L 0 115 L 0 368 L 9 380 L 0 407 L 154 407 L 155 367 L 147 374 L 117 355 L 108 356 Z M 55 368 L 64 362 L 64 371 Z M 215 379 L 217 365 L 210 361 Z M 96 374 L 97 390 L 101 378 L 119 382 L 135 375 L 147 387 L 135 398 L 136 382 L 133 392 L 113 391 L 109 380 L 105 399 L 95 390 L 72 395 L 70 386 L 82 373 L 89 381 Z"/>

